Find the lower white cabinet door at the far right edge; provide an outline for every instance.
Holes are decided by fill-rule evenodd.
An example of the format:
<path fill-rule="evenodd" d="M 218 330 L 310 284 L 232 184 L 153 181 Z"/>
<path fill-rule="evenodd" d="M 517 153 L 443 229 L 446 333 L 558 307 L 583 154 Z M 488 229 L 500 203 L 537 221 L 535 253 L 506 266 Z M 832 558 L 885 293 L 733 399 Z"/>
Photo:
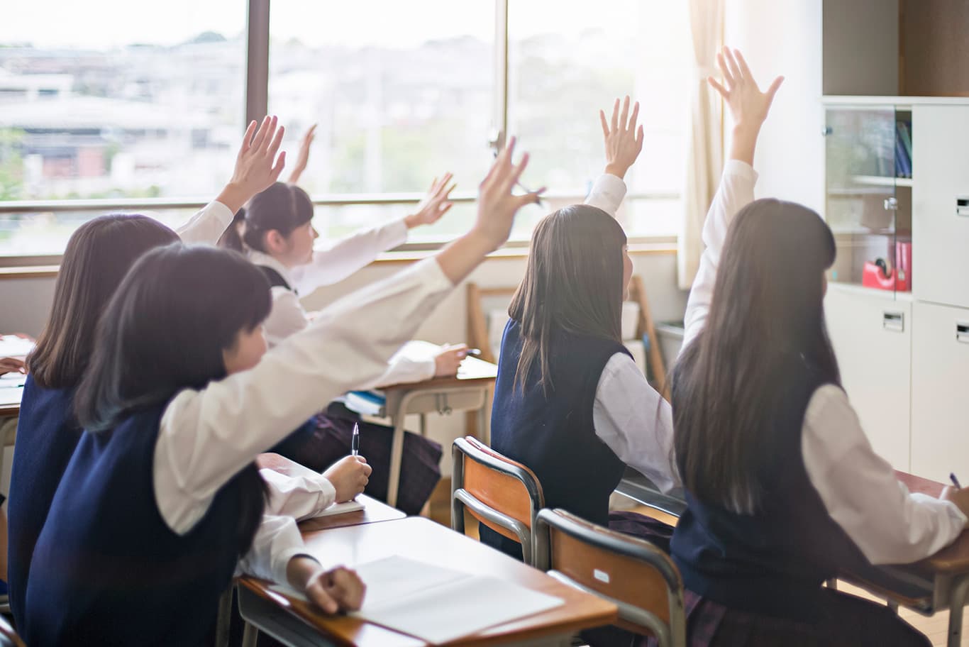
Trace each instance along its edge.
<path fill-rule="evenodd" d="M 969 308 L 914 304 L 912 472 L 969 478 Z M 963 476 L 967 475 L 967 476 Z"/>

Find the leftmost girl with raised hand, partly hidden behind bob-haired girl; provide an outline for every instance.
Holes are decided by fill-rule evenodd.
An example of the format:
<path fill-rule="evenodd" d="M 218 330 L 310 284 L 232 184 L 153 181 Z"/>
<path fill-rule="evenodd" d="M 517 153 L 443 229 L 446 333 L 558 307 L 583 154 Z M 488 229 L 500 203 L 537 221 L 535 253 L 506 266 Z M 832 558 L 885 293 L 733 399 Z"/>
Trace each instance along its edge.
<path fill-rule="evenodd" d="M 282 129 L 276 130 L 274 117 L 267 117 L 258 132 L 253 123 L 229 184 L 177 233 L 145 216 L 109 215 L 81 225 L 71 236 L 58 272 L 50 318 L 28 359 L 31 373 L 17 424 L 9 555 L 11 609 L 18 624 L 23 620 L 34 543 L 80 437 L 72 415 L 74 394 L 87 370 L 95 330 L 111 295 L 129 267 L 148 250 L 179 239 L 212 243 L 231 221 L 233 210 L 279 175 L 282 154 L 276 166 L 273 162 L 281 137 Z M 266 471 L 272 490 L 270 509 L 311 515 L 338 494 L 356 494 L 350 494 L 355 489 L 351 484 L 368 471 L 362 464 L 340 464 L 319 483 L 295 482 Z M 300 497 L 300 493 L 307 496 Z"/>

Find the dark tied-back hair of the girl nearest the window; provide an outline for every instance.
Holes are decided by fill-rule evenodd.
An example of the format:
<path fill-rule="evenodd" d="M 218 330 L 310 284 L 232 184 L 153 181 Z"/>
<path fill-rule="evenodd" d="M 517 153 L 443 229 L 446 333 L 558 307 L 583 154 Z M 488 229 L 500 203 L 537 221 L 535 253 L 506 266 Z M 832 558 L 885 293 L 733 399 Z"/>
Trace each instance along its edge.
<path fill-rule="evenodd" d="M 219 238 L 219 246 L 236 252 L 246 249 L 266 252 L 267 232 L 279 231 L 286 237 L 311 220 L 313 201 L 306 192 L 297 186 L 276 182 L 236 212 L 232 226 Z"/>

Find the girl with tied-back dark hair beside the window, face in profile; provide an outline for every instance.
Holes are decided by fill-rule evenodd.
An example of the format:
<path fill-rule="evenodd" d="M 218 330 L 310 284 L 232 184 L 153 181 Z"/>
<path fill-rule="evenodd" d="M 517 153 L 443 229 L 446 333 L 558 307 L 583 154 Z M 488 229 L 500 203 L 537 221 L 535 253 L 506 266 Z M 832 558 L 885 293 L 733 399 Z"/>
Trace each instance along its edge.
<path fill-rule="evenodd" d="M 266 319 L 269 346 L 286 339 L 311 321 L 299 302 L 300 295 L 337 283 L 372 262 L 380 252 L 403 243 L 407 231 L 437 222 L 451 208 L 452 175 L 446 173 L 431 183 L 430 191 L 411 214 L 386 225 L 343 238 L 325 249 L 314 249 L 318 234 L 313 228 L 313 203 L 295 186 L 309 157 L 313 141 L 311 128 L 303 138 L 297 169 L 288 184 L 276 182 L 255 196 L 236 214 L 235 225 L 219 244 L 246 253 L 266 273 L 272 295 L 272 310 Z M 449 186 L 450 185 L 450 186 Z M 467 355 L 464 344 L 447 346 L 436 356 L 415 359 L 395 355 L 388 370 L 375 386 L 422 382 L 433 377 L 453 376 Z M 321 409 L 327 403 L 321 402 Z M 327 412 L 303 424 L 283 443 L 273 447 L 314 470 L 330 464 L 350 449 L 355 424 L 360 427 L 360 449 L 374 468 L 366 493 L 386 501 L 391 465 L 393 430 L 386 425 L 362 421 L 359 416 L 334 403 Z M 408 514 L 421 511 L 441 478 L 441 446 L 415 434 L 404 437 L 401 487 L 396 507 Z"/>

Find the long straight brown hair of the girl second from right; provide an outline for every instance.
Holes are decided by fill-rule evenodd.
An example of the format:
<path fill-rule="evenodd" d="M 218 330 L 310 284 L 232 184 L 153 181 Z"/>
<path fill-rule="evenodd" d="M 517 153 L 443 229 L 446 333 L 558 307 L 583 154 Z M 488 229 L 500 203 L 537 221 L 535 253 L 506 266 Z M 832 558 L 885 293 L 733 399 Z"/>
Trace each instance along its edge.
<path fill-rule="evenodd" d="M 551 392 L 549 357 L 559 333 L 621 340 L 625 244 L 615 219 L 588 204 L 564 207 L 539 222 L 508 309 L 521 326 L 516 386 L 538 366 L 540 384 Z"/>

